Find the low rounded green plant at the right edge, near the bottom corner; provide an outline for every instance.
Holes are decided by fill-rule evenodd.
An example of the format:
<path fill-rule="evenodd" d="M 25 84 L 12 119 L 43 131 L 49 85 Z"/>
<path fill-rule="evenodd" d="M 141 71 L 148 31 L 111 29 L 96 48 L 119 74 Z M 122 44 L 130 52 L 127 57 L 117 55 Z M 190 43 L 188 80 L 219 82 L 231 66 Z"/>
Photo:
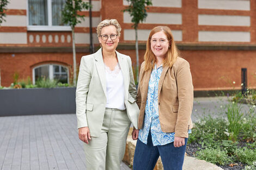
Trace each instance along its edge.
<path fill-rule="evenodd" d="M 236 159 L 248 165 L 252 165 L 256 160 L 256 149 L 248 149 L 247 147 L 239 148 L 235 152 Z"/>

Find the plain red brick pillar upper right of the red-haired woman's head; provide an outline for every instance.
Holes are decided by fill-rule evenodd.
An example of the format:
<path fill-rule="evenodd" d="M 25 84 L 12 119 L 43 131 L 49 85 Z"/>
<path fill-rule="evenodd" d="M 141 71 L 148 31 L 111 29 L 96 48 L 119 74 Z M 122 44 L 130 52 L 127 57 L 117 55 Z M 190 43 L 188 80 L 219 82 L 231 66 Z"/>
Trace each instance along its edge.
<path fill-rule="evenodd" d="M 182 41 L 198 41 L 198 0 L 182 0 Z M 254 0 L 251 0 L 254 1 Z"/>

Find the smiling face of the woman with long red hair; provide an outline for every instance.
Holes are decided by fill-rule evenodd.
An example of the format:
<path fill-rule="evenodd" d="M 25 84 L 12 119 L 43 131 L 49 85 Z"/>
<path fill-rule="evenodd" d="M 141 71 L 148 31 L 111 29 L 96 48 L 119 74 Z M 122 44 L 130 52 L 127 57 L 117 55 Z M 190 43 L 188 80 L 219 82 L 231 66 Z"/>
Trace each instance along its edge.
<path fill-rule="evenodd" d="M 169 48 L 169 40 L 166 34 L 162 31 L 153 34 L 150 40 L 150 48 L 156 57 L 164 58 Z"/>

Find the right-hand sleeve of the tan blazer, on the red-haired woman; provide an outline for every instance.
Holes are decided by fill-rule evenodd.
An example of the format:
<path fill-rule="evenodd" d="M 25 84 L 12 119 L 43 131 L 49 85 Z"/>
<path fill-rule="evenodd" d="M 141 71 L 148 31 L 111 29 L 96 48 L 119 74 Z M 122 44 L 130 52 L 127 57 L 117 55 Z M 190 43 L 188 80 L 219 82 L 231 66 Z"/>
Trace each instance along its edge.
<path fill-rule="evenodd" d="M 188 124 L 193 108 L 193 83 L 190 65 L 186 60 L 179 64 L 176 72 L 176 83 L 178 86 L 179 109 L 175 126 L 175 136 L 188 137 Z"/>

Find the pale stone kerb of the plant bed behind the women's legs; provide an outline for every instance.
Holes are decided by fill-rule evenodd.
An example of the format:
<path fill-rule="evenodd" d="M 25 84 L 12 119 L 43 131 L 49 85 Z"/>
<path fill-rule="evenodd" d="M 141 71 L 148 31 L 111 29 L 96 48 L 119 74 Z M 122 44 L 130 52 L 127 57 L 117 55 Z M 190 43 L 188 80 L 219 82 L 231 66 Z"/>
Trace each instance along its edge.
<path fill-rule="evenodd" d="M 136 142 L 132 140 L 131 137 L 132 128 L 130 128 L 129 135 L 126 141 L 126 150 L 123 161 L 129 165 L 133 165 L 133 156 L 135 153 Z M 156 163 L 154 170 L 163 170 L 161 158 Z M 199 160 L 185 154 L 184 165 L 182 170 L 223 170 L 221 167 L 218 167 L 212 163 L 206 162 L 204 160 Z"/>

